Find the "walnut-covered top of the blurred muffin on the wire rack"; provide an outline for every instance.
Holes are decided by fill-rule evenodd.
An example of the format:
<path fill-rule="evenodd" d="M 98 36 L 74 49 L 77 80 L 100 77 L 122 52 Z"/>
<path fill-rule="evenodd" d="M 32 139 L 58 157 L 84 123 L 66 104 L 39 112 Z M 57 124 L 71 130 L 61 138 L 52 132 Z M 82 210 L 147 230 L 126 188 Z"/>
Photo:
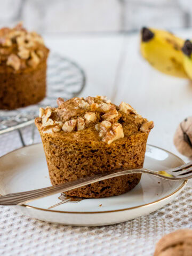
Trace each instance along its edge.
<path fill-rule="evenodd" d="M 14 28 L 0 29 L 0 71 L 19 72 L 36 68 L 47 58 L 49 49 L 36 32 L 28 32 L 19 23 Z"/>

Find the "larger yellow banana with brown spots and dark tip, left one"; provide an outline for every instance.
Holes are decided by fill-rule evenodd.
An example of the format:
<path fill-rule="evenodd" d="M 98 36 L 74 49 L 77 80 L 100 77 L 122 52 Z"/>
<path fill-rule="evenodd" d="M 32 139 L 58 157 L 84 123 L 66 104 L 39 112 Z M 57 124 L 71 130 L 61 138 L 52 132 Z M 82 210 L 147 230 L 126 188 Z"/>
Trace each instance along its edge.
<path fill-rule="evenodd" d="M 183 39 L 174 36 L 169 31 L 145 27 L 141 30 L 143 58 L 151 66 L 167 75 L 188 78 L 183 68 L 183 53 L 181 51 L 183 44 Z"/>

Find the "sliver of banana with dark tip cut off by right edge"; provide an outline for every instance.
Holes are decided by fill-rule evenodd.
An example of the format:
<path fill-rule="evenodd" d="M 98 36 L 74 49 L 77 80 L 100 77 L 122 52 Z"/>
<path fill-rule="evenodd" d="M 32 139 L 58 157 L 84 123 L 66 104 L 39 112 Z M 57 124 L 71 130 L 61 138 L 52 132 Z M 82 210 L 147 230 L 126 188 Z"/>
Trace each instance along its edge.
<path fill-rule="evenodd" d="M 185 41 L 182 47 L 183 66 L 189 78 L 192 80 L 192 43 L 189 40 Z"/>

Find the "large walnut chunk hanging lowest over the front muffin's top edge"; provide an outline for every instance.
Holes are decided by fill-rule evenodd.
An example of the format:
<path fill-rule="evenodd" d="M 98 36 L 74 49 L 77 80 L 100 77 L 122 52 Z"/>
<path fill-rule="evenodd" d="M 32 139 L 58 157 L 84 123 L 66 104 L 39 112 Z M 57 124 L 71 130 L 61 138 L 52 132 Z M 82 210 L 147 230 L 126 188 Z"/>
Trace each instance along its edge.
<path fill-rule="evenodd" d="M 113 124 L 112 130 L 107 132 L 106 136 L 102 139 L 108 145 L 115 140 L 124 138 L 123 127 L 121 124 Z"/>

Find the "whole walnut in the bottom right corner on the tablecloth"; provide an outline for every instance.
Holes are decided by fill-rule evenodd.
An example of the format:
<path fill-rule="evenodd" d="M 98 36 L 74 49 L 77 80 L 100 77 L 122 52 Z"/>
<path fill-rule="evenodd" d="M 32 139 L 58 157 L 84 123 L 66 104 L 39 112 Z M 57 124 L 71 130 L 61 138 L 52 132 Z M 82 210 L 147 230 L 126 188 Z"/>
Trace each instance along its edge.
<path fill-rule="evenodd" d="M 192 256 L 192 230 L 180 229 L 163 236 L 154 256 Z"/>

